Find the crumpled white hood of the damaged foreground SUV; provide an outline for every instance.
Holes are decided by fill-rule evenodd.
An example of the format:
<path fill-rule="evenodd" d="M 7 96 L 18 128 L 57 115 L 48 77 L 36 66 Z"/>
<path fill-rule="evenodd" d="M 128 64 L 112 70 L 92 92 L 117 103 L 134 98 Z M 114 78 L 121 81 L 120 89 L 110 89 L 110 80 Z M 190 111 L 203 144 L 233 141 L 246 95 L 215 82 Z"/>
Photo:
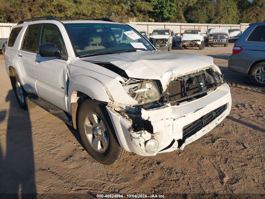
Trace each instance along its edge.
<path fill-rule="evenodd" d="M 158 50 L 99 55 L 81 60 L 114 64 L 131 78 L 160 80 L 163 88 L 171 77 L 214 65 L 213 58 L 209 56 Z M 218 67 L 215 69 L 220 72 Z"/>

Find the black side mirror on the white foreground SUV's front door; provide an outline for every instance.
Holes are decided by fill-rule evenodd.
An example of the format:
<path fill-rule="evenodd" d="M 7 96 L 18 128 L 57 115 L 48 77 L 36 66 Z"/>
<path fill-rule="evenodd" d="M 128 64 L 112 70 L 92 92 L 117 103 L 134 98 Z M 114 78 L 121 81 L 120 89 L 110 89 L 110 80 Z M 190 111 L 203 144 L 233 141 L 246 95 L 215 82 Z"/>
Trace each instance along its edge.
<path fill-rule="evenodd" d="M 43 43 L 39 46 L 39 54 L 41 57 L 61 58 L 61 51 L 55 43 Z"/>

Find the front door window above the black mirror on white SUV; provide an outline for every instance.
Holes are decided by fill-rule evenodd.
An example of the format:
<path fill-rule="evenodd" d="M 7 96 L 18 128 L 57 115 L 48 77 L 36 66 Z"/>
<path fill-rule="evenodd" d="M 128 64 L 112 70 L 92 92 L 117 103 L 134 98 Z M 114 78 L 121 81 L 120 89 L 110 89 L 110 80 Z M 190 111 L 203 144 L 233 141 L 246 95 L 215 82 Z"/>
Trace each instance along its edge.
<path fill-rule="evenodd" d="M 40 36 L 40 44 L 49 42 L 55 43 L 56 46 L 60 48 L 61 54 L 63 54 L 63 40 L 59 30 L 52 25 L 43 25 Z"/>

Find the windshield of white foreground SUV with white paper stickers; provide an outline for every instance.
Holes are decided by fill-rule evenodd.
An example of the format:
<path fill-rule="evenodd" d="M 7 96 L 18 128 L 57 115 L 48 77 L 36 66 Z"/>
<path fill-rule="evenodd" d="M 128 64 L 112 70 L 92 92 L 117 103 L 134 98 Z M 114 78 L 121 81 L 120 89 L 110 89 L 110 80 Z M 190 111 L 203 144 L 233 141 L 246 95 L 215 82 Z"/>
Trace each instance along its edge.
<path fill-rule="evenodd" d="M 137 49 L 155 50 L 143 35 L 129 25 L 66 24 L 65 26 L 78 56 Z"/>

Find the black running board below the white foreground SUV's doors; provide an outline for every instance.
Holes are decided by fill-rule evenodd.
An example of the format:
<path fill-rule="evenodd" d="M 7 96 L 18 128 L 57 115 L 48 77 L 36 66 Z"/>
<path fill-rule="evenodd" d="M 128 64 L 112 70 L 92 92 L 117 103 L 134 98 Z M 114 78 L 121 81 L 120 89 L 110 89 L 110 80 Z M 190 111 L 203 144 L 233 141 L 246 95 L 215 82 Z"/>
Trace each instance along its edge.
<path fill-rule="evenodd" d="M 53 114 L 57 118 L 61 119 L 66 124 L 69 124 L 71 126 L 73 125 L 71 115 L 69 115 L 67 112 L 63 111 L 62 109 L 52 105 L 51 103 L 45 101 L 44 99 L 36 95 L 28 95 L 28 99 L 34 102 L 35 104 L 37 104 L 39 107 Z"/>

